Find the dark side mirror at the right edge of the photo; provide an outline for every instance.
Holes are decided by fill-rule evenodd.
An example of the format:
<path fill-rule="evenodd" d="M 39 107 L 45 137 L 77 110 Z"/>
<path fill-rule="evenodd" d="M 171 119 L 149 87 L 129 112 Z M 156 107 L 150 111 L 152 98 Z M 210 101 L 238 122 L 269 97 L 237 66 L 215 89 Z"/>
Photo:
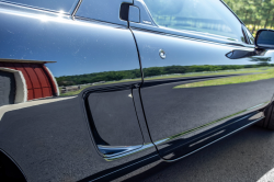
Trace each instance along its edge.
<path fill-rule="evenodd" d="M 263 49 L 274 49 L 274 30 L 259 30 L 255 46 Z"/>

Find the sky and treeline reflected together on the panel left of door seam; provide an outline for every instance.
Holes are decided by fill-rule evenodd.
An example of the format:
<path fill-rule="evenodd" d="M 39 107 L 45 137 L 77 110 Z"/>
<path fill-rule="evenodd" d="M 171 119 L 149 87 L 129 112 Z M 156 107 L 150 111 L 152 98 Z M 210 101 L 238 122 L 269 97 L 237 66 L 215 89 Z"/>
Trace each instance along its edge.
<path fill-rule="evenodd" d="M 79 94 L 101 83 L 140 81 L 135 42 L 125 26 L 72 21 L 50 13 L 39 16 L 34 10 L 24 12 L 7 7 L 1 11 L 1 24 L 5 24 L 0 30 L 4 44 L 1 58 L 11 64 L 55 61 L 47 67 L 61 95 Z"/>

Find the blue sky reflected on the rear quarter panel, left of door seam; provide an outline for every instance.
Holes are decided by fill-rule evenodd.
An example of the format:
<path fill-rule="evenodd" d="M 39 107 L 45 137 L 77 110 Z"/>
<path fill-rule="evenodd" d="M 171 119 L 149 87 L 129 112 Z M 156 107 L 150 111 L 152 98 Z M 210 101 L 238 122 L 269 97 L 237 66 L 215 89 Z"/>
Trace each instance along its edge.
<path fill-rule="evenodd" d="M 48 60 L 56 76 L 139 68 L 128 30 L 64 19 L 0 13 L 0 57 Z"/>

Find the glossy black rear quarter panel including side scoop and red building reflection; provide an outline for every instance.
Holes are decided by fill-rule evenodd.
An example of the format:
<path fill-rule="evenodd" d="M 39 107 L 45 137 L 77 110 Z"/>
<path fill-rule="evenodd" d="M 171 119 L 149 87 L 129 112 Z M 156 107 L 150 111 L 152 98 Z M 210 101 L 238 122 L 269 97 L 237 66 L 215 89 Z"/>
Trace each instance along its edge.
<path fill-rule="evenodd" d="M 0 14 L 0 70 L 22 76 L 25 90 L 21 93 L 26 95 L 21 103 L 0 106 L 0 148 L 28 181 L 106 179 L 159 160 L 153 145 L 133 152 L 151 141 L 145 121 L 138 120 L 144 117 L 140 100 L 130 95 L 142 79 L 135 39 L 126 25 L 11 4 L 1 5 Z M 44 83 L 55 84 L 55 94 L 27 100 L 31 90 Z M 88 103 L 94 121 L 88 116 Z M 115 158 L 110 150 L 103 153 L 93 126 L 109 144 L 102 150 L 123 151 Z"/>

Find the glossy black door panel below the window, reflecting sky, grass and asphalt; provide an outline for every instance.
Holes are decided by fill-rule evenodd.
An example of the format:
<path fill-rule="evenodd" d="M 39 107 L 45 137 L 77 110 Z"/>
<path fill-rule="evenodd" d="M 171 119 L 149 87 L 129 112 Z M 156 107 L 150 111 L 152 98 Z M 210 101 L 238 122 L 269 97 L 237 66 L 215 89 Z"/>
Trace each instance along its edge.
<path fill-rule="evenodd" d="M 162 35 L 134 27 L 133 32 L 144 70 L 144 84 L 140 89 L 144 111 L 151 138 L 163 159 L 181 158 L 228 135 L 236 126 L 248 126 L 252 121 L 244 118 L 252 111 L 247 109 L 266 103 L 262 104 L 264 107 L 272 100 L 272 52 L 258 55 L 254 48 Z M 165 59 L 161 59 L 159 49 L 165 52 Z M 226 55 L 233 49 L 244 55 L 230 59 Z M 261 78 L 261 73 L 269 75 Z M 240 76 L 248 79 L 237 84 L 228 82 L 221 86 L 215 83 L 209 87 L 181 88 L 196 82 L 203 84 L 206 80 L 237 80 Z M 249 77 L 259 79 L 249 80 Z M 173 89 L 178 87 L 180 89 Z M 246 111 L 247 117 L 242 111 Z M 261 118 L 263 116 L 253 120 L 253 123 Z M 226 130 L 219 133 L 224 126 Z M 191 136 L 190 140 L 181 139 L 182 134 L 187 134 L 184 136 L 186 138 Z M 209 138 L 203 140 L 203 137 Z"/>

